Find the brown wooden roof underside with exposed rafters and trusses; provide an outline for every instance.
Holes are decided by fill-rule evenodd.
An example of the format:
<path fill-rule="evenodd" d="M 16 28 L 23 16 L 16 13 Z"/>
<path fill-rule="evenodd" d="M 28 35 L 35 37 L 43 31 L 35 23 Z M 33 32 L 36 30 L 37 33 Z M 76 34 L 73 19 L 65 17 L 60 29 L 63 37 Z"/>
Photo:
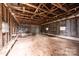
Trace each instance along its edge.
<path fill-rule="evenodd" d="M 3 4 L 18 24 L 41 25 L 79 13 L 78 3 L 6 3 Z"/>

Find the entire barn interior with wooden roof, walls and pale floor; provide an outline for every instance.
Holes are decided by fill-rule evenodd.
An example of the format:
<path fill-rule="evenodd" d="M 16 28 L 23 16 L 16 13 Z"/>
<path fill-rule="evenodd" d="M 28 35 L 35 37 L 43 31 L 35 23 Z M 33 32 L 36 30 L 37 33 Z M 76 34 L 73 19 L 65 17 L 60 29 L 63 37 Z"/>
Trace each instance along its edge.
<path fill-rule="evenodd" d="M 0 3 L 0 56 L 79 55 L 79 3 Z"/>

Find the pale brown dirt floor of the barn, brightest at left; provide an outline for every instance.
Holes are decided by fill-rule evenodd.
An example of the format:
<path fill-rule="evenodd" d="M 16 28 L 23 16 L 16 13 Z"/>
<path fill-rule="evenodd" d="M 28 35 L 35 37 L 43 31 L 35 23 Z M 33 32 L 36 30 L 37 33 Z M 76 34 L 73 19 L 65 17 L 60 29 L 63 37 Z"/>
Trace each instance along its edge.
<path fill-rule="evenodd" d="M 19 37 L 8 56 L 79 55 L 79 42 L 44 35 Z"/>

